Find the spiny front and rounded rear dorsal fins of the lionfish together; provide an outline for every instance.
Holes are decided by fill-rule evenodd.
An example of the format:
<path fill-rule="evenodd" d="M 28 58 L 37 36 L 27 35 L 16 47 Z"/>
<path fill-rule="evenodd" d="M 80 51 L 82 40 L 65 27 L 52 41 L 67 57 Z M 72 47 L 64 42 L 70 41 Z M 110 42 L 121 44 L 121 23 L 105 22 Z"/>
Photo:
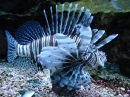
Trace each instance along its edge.
<path fill-rule="evenodd" d="M 68 7 L 67 15 L 64 12 L 64 4 L 62 4 L 62 11 L 61 15 L 58 12 L 58 6 L 55 7 L 55 15 L 53 15 L 53 9 L 50 7 L 50 14 L 51 14 L 51 22 L 49 22 L 49 18 L 46 14 L 46 11 L 43 10 L 46 25 L 43 29 L 43 27 L 36 21 L 28 21 L 21 25 L 17 32 L 16 32 L 16 40 L 18 43 L 25 45 L 33 40 L 39 39 L 43 36 L 49 36 L 54 35 L 55 33 L 62 33 L 64 35 L 70 36 L 73 38 L 73 36 L 77 37 L 79 36 L 79 33 L 77 34 L 77 24 L 80 23 L 83 26 L 89 26 L 92 20 L 91 13 L 89 10 L 87 10 L 83 17 L 81 17 L 82 12 L 84 10 L 84 7 L 80 9 L 78 14 L 77 12 L 78 4 L 74 6 L 74 11 L 71 14 L 72 11 L 72 3 Z M 81 20 L 80 20 L 81 19 Z M 80 21 L 80 22 L 79 22 Z"/>

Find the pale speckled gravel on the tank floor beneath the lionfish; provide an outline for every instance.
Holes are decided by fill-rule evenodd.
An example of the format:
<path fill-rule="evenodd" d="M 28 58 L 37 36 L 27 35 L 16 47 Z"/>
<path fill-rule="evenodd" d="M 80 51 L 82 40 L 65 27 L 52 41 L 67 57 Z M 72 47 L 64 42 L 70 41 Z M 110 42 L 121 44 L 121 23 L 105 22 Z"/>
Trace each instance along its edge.
<path fill-rule="evenodd" d="M 35 64 L 19 66 L 16 61 L 7 63 L 1 60 L 0 97 L 22 97 L 28 90 L 35 91 L 34 97 L 58 97 L 58 94 L 52 91 L 49 70 L 38 71 Z M 81 88 L 73 93 L 58 89 L 56 91 L 60 92 L 59 95 L 67 95 L 67 97 L 130 97 L 130 86 L 118 86 L 118 84 L 97 80 L 87 89 Z"/>

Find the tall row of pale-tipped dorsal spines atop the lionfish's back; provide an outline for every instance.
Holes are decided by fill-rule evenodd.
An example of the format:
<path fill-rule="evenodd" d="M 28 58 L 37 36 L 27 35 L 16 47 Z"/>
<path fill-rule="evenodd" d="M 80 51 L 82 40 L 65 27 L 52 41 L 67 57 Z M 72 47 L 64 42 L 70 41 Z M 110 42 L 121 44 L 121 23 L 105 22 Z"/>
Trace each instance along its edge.
<path fill-rule="evenodd" d="M 46 15 L 46 11 L 44 10 L 44 16 L 46 20 L 46 30 L 50 35 L 54 35 L 55 33 L 62 33 L 67 36 L 76 35 L 76 25 L 79 23 L 84 26 L 89 26 L 92 20 L 91 13 L 87 10 L 83 17 L 81 17 L 84 7 L 80 9 L 78 14 L 77 12 L 78 4 L 72 6 L 72 3 L 68 6 L 67 13 L 64 12 L 64 4 L 62 4 L 62 11 L 61 13 L 58 12 L 58 6 L 55 7 L 55 13 L 53 13 L 52 7 L 50 7 L 50 14 L 51 14 L 51 22 L 49 23 L 48 16 Z M 73 12 L 71 13 L 71 11 Z M 54 15 L 53 15 L 54 14 Z M 81 19 L 81 20 L 80 20 Z M 51 27 L 50 27 L 51 26 Z M 51 28 L 51 29 L 50 29 Z M 73 34 L 73 35 L 72 35 Z"/>

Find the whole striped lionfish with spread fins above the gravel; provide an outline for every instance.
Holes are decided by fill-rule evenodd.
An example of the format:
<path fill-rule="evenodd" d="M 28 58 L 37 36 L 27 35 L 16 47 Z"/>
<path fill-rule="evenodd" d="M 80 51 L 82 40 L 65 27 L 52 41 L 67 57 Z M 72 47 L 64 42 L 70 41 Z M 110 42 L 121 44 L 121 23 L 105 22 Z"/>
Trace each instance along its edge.
<path fill-rule="evenodd" d="M 76 14 L 77 7 L 78 4 L 71 13 L 71 3 L 65 14 L 64 4 L 61 13 L 58 13 L 56 5 L 55 15 L 50 7 L 51 22 L 44 10 L 45 27 L 37 21 L 28 21 L 16 31 L 16 40 L 5 31 L 8 40 L 8 62 L 17 56 L 31 57 L 42 68 L 51 70 L 54 83 L 59 83 L 61 87 L 67 86 L 68 90 L 90 84 L 91 76 L 85 68 L 104 66 L 106 55 L 98 49 L 118 34 L 110 35 L 95 45 L 105 31 L 92 30 L 90 24 L 93 16 L 90 11 L 87 9 L 83 13 L 82 7 Z"/>

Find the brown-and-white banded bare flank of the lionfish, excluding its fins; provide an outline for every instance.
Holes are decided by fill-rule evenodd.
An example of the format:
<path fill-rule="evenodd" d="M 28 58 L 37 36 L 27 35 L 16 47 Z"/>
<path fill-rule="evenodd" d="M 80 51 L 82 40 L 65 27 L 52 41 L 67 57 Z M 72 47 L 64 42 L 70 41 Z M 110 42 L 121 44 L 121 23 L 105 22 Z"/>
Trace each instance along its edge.
<path fill-rule="evenodd" d="M 73 40 L 78 45 L 80 38 L 74 36 Z M 57 46 L 58 43 L 53 36 L 45 36 L 37 40 L 33 40 L 27 45 L 17 44 L 17 56 L 31 57 L 35 62 L 38 62 L 37 55 L 40 54 L 41 50 L 47 46 Z"/>

